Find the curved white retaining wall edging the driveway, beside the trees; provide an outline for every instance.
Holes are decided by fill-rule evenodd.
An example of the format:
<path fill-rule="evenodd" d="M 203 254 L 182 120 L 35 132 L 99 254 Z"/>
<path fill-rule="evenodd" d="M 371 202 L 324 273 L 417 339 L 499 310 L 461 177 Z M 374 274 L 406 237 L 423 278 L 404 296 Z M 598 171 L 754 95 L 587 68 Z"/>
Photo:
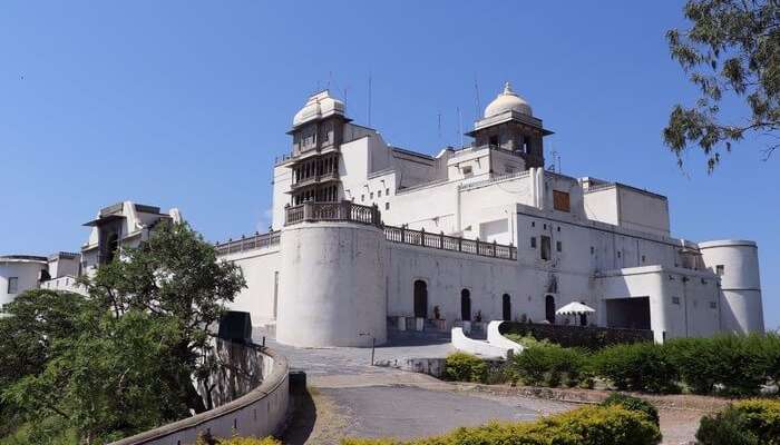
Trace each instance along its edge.
<path fill-rule="evenodd" d="M 260 353 L 263 383 L 245 395 L 205 413 L 123 438 L 110 445 L 194 445 L 201 433 L 214 437 L 265 437 L 284 424 L 289 404 L 287 359 L 267 348 Z"/>

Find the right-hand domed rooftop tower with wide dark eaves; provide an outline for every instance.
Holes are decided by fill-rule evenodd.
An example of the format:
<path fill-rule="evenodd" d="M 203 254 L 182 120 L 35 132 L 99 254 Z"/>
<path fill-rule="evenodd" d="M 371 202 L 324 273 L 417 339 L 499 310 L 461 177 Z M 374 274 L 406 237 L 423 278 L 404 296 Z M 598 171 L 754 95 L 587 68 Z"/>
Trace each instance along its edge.
<path fill-rule="evenodd" d="M 544 167 L 542 139 L 553 131 L 544 129 L 542 119 L 534 117 L 530 105 L 506 82 L 499 93 L 486 108 L 482 119 L 474 123 L 467 132 L 476 139 L 477 147 L 491 147 L 511 151 L 525 159 L 526 169 Z"/>

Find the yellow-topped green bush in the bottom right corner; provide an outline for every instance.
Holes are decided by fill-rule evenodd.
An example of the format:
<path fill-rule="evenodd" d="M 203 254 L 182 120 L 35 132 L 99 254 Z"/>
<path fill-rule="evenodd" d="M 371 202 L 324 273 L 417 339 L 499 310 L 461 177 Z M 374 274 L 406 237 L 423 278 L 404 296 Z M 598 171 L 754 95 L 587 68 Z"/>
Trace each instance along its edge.
<path fill-rule="evenodd" d="M 738 402 L 704 416 L 696 439 L 702 445 L 779 445 L 780 400 Z"/>

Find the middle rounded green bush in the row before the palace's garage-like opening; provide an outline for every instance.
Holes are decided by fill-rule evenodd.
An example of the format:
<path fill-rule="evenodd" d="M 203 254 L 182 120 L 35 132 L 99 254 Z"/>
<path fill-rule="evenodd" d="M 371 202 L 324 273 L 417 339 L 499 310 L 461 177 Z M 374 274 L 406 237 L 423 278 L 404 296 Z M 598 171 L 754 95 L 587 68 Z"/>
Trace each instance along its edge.
<path fill-rule="evenodd" d="M 676 367 L 664 347 L 653 343 L 610 346 L 592 357 L 591 366 L 597 375 L 608 378 L 621 390 L 679 390 L 675 385 L 679 378 Z"/>

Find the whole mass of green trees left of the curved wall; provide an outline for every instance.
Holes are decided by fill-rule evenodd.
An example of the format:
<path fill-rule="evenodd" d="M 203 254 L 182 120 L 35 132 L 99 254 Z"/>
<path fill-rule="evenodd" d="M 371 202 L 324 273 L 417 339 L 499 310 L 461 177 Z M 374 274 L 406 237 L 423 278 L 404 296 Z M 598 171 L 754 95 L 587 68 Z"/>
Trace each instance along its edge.
<path fill-rule="evenodd" d="M 75 432 L 99 444 L 211 408 L 197 385 L 221 366 L 213 329 L 245 286 L 237 266 L 186 224 L 164 222 L 81 283 L 87 297 L 35 290 L 4 307 L 7 424 L 26 421 L 29 443 Z"/>

